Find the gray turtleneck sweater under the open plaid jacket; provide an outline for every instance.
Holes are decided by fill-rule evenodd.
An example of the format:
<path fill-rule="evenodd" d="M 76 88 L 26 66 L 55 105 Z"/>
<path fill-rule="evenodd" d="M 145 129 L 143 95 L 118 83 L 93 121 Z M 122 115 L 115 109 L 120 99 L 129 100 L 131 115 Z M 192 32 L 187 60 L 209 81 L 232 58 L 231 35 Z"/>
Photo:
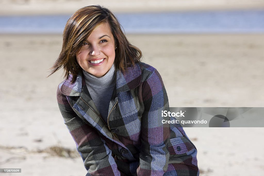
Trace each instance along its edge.
<path fill-rule="evenodd" d="M 103 120 L 107 124 L 109 103 L 115 88 L 115 67 L 114 64 L 109 71 L 100 78 L 97 78 L 83 70 L 86 86 L 95 103 L 97 110 L 100 112 Z"/>

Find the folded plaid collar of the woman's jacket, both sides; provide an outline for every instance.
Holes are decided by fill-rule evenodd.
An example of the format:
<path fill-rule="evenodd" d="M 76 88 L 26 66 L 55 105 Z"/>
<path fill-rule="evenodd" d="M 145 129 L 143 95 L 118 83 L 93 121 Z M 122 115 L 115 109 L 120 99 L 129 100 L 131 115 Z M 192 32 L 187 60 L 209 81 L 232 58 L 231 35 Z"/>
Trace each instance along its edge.
<path fill-rule="evenodd" d="M 80 96 L 82 87 L 85 85 L 83 73 L 79 72 L 77 79 L 71 83 L 72 75 L 60 83 L 60 91 L 66 96 Z M 141 68 L 140 64 L 136 63 L 134 66 L 128 67 L 125 73 L 119 69 L 116 70 L 116 92 L 126 92 L 138 87 L 141 82 Z"/>

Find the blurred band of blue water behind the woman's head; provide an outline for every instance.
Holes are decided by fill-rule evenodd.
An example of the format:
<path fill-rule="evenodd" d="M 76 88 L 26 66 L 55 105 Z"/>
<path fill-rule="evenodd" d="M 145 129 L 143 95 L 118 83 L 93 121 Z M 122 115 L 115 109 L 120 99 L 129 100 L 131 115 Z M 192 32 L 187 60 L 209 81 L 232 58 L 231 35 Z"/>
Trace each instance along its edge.
<path fill-rule="evenodd" d="M 128 33 L 263 33 L 264 10 L 115 14 Z M 0 33 L 62 34 L 70 15 L 2 16 Z"/>

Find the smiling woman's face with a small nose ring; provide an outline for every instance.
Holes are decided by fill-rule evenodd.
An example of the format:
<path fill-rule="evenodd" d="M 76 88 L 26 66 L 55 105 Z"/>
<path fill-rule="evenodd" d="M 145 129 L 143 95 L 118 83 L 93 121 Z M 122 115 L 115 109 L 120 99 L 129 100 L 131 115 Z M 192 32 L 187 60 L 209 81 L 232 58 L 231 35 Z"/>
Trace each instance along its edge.
<path fill-rule="evenodd" d="M 82 69 L 97 78 L 108 72 L 115 60 L 115 40 L 108 23 L 92 31 L 76 58 Z"/>

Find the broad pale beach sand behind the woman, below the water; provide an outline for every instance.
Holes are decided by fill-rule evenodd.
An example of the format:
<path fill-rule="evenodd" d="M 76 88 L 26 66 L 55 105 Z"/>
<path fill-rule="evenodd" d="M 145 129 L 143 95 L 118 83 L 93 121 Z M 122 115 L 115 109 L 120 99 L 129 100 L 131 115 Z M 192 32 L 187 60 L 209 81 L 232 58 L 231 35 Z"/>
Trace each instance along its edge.
<path fill-rule="evenodd" d="M 46 78 L 61 35 L 0 35 L 0 168 L 85 175 L 56 102 L 62 70 Z M 170 107 L 263 107 L 264 35 L 128 35 L 157 68 Z M 264 128 L 185 128 L 200 175 L 262 175 Z M 5 173 L 0 175 L 18 175 Z"/>

